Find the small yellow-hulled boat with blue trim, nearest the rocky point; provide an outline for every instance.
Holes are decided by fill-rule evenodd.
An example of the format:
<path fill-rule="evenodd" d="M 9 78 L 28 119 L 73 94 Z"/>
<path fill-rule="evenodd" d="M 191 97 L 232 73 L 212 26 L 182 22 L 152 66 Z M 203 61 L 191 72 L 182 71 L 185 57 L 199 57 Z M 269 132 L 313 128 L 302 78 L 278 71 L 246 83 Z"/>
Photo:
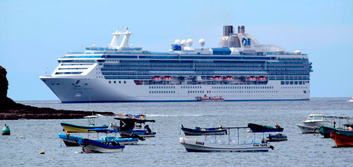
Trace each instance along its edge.
<path fill-rule="evenodd" d="M 89 129 L 95 129 L 95 128 L 100 128 L 100 129 L 106 129 L 109 126 L 108 125 L 102 125 L 102 126 L 95 126 L 95 119 L 98 118 L 99 116 L 87 116 L 83 118 L 88 119 L 88 126 L 81 126 L 81 125 L 75 125 L 71 123 L 66 123 L 66 122 L 60 122 L 61 126 L 64 128 L 65 133 L 88 133 Z"/>

